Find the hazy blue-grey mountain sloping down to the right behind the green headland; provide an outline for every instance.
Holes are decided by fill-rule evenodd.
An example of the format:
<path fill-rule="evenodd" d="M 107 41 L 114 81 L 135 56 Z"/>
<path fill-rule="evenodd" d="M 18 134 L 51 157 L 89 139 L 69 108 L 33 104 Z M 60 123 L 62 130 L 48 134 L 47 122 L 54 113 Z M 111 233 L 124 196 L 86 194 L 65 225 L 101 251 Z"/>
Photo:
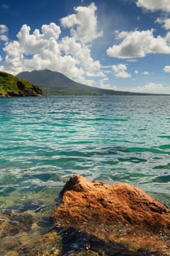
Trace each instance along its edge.
<path fill-rule="evenodd" d="M 113 95 L 113 94 L 133 94 L 128 91 L 113 91 L 85 86 L 66 77 L 60 72 L 48 69 L 21 72 L 17 75 L 31 83 L 39 84 L 45 95 Z"/>

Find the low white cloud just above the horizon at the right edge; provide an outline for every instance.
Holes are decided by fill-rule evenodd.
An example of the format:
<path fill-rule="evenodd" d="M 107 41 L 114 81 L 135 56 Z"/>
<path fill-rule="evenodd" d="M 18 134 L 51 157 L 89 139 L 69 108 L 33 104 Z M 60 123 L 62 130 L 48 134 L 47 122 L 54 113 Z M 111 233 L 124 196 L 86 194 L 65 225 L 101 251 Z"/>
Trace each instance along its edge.
<path fill-rule="evenodd" d="M 170 87 L 163 86 L 161 83 L 147 83 L 144 86 L 137 86 L 135 88 L 128 89 L 128 91 L 151 94 L 170 94 Z"/>

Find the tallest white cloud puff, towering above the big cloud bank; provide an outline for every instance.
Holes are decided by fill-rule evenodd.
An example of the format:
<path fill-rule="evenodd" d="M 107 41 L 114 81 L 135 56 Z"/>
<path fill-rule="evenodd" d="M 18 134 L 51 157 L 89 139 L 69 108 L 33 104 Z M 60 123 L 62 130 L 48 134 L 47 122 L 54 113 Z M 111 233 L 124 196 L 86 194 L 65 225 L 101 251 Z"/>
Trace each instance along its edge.
<path fill-rule="evenodd" d="M 71 35 L 83 44 L 102 36 L 97 29 L 97 7 L 90 4 L 88 7 L 75 7 L 76 14 L 61 18 L 61 25 L 71 29 Z"/>

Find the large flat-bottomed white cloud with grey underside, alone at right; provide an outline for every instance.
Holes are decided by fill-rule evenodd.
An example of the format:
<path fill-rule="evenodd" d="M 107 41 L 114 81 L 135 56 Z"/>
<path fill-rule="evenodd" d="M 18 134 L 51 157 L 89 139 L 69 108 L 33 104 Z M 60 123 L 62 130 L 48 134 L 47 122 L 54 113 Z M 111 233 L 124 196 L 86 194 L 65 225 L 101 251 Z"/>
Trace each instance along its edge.
<path fill-rule="evenodd" d="M 120 39 L 123 39 L 119 45 L 113 45 L 107 49 L 107 55 L 119 59 L 142 58 L 148 53 L 166 53 L 170 54 L 170 34 L 166 37 L 154 37 L 154 29 L 147 31 L 129 31 L 120 32 Z"/>

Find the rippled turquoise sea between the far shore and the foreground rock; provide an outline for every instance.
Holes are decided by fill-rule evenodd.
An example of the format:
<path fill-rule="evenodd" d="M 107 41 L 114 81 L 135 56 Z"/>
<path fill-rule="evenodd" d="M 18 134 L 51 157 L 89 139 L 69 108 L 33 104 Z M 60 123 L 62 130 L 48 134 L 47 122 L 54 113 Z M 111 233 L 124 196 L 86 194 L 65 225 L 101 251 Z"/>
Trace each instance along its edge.
<path fill-rule="evenodd" d="M 170 205 L 170 97 L 1 98 L 0 120 L 1 208 L 53 206 L 74 173 Z"/>

